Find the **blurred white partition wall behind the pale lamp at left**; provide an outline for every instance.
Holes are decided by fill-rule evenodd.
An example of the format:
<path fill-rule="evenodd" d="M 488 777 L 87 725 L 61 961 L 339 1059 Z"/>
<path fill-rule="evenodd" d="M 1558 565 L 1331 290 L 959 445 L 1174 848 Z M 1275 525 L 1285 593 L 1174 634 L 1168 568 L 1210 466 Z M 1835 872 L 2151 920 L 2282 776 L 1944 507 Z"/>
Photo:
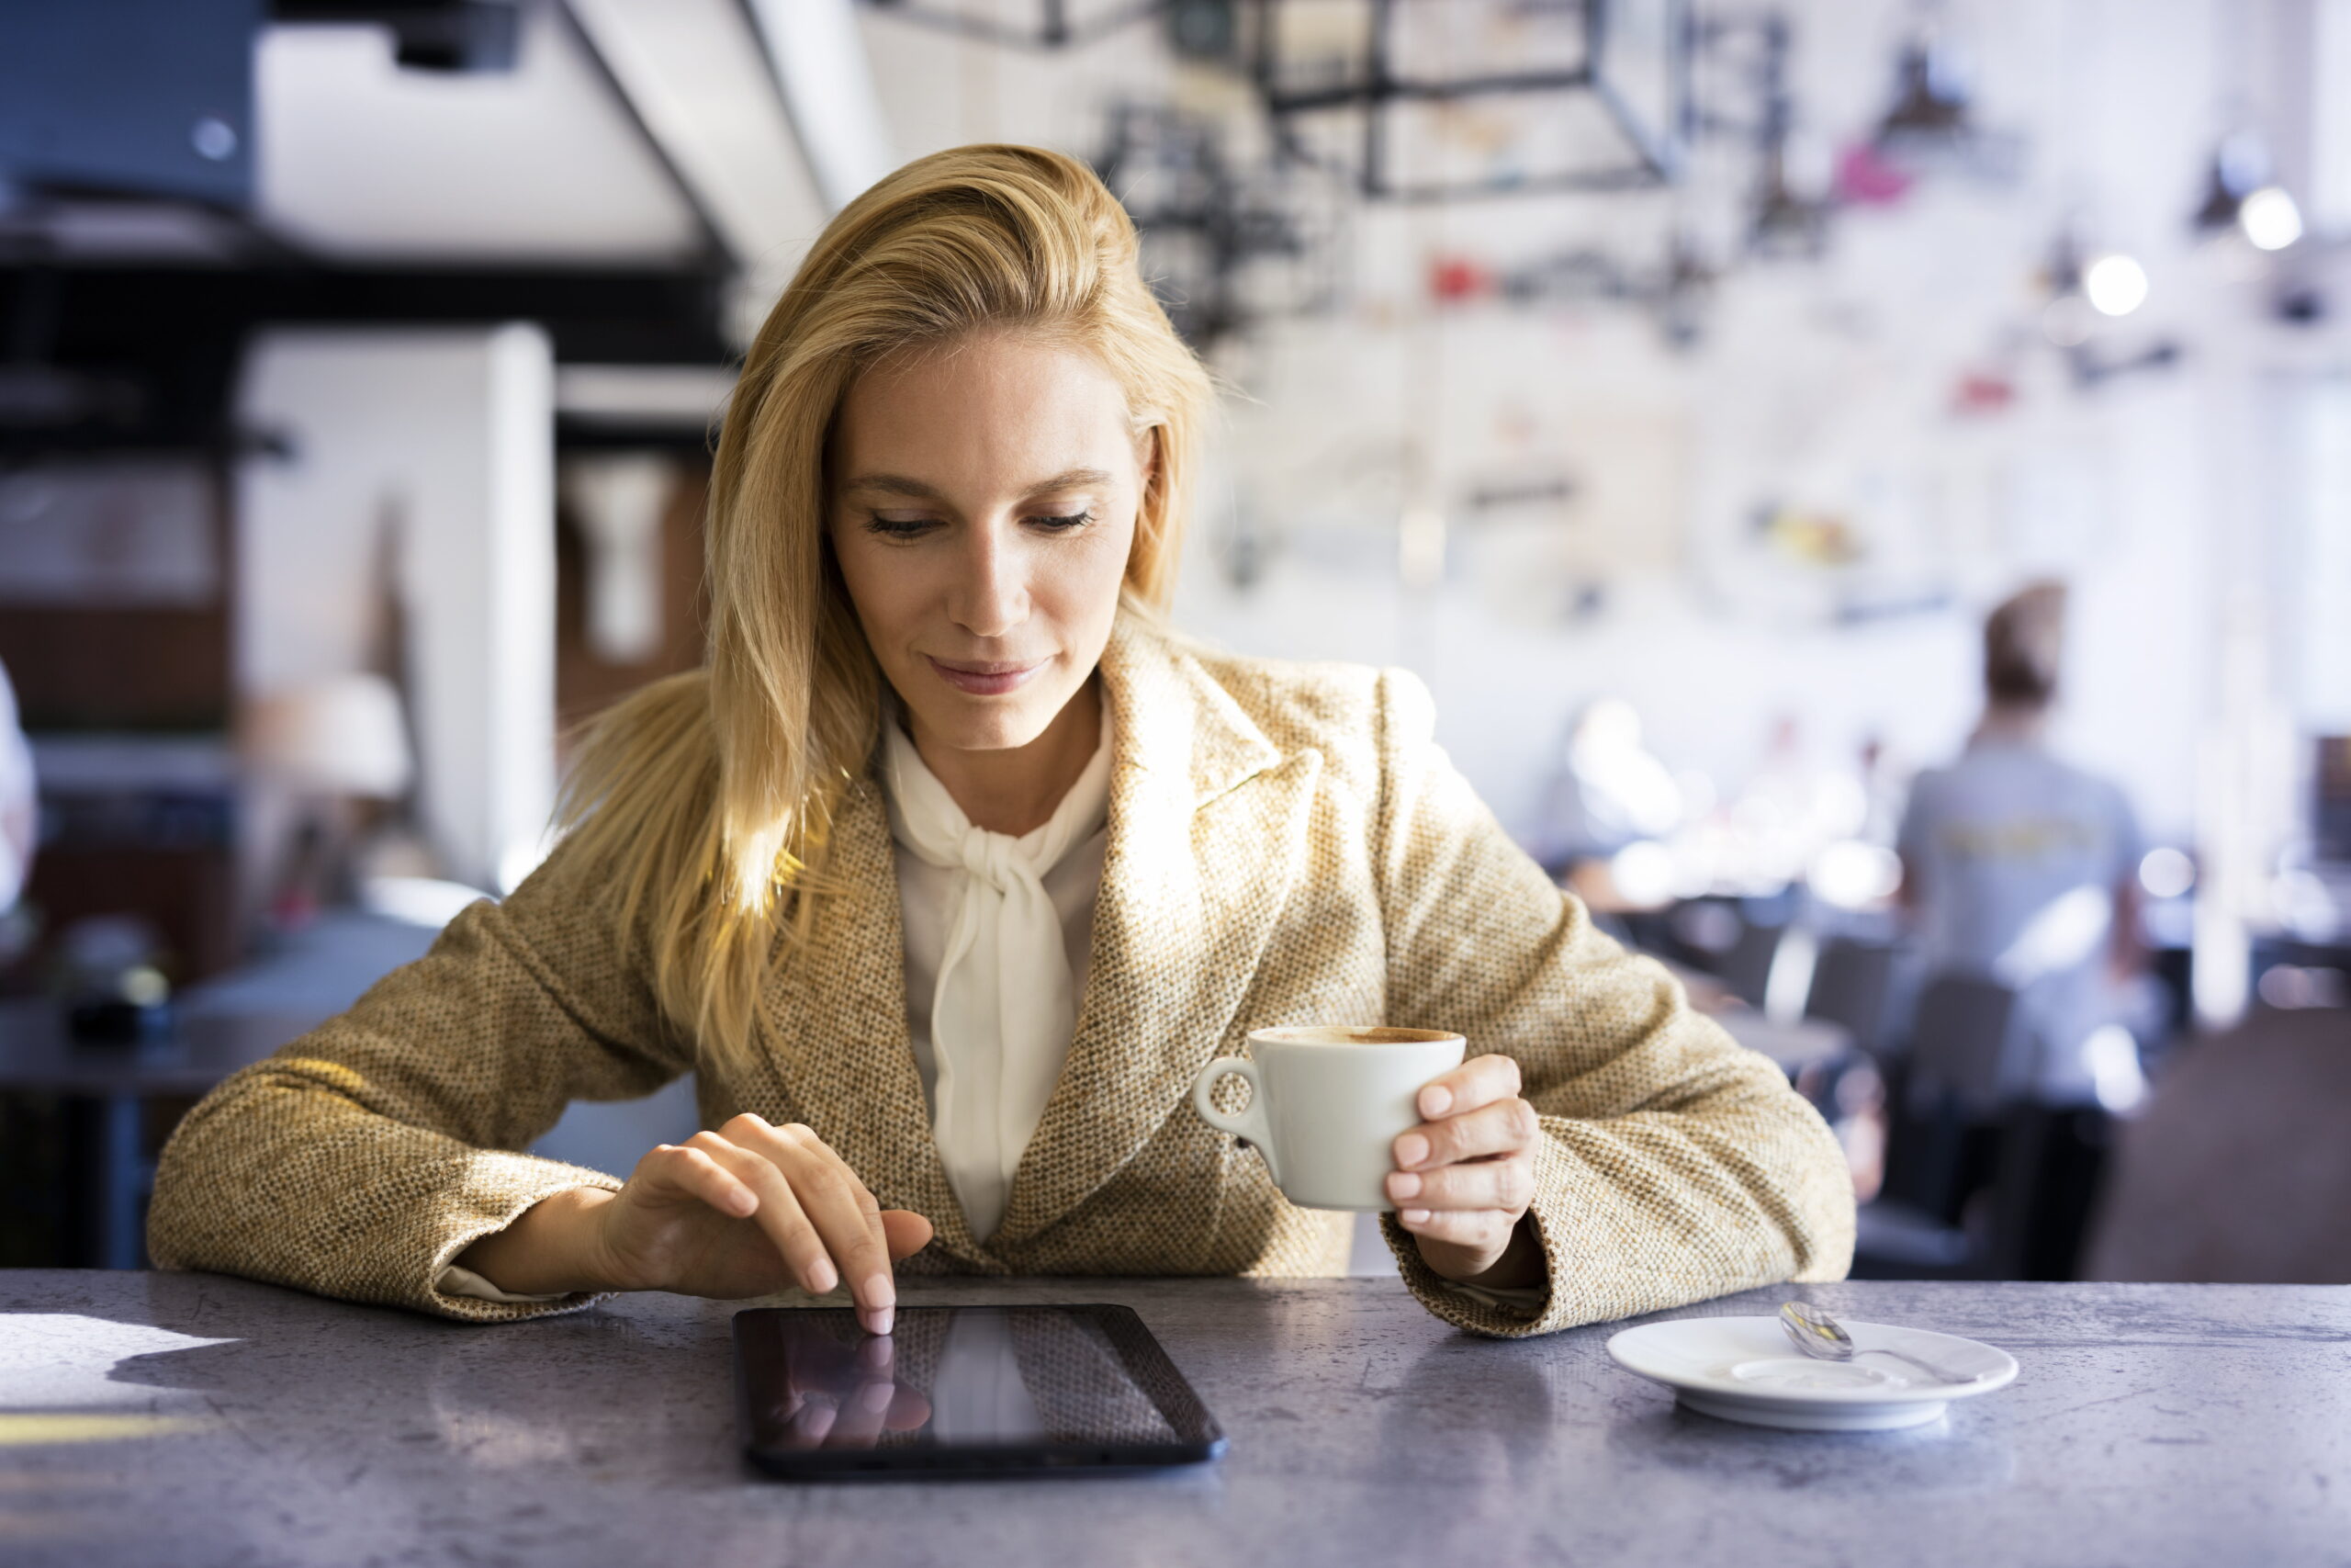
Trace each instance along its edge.
<path fill-rule="evenodd" d="M 237 693 L 367 668 L 397 595 L 421 827 L 449 877 L 513 886 L 555 797 L 545 334 L 263 331 L 237 418 L 289 447 L 237 473 Z"/>

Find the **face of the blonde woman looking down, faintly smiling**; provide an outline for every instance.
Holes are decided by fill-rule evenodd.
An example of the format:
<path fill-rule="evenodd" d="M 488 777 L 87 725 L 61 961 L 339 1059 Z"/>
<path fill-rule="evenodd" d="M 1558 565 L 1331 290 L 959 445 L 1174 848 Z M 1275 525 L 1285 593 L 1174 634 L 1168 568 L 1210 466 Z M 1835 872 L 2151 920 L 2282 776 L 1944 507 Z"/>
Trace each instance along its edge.
<path fill-rule="evenodd" d="M 1086 684 L 1147 442 L 1091 355 L 959 339 L 860 376 L 832 433 L 832 552 L 924 745 L 1027 745 Z"/>

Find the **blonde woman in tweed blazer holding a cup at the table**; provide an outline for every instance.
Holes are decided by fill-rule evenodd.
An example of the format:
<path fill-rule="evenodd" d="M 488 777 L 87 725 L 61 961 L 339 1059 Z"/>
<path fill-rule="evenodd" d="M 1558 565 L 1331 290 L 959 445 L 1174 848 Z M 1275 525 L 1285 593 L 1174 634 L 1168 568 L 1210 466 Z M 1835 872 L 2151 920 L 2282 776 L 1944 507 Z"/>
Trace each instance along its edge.
<path fill-rule="evenodd" d="M 1208 381 L 1081 165 L 907 165 L 818 240 L 710 491 L 708 672 L 597 729 L 569 837 L 214 1091 L 150 1248 L 491 1321 L 893 1269 L 1333 1274 L 1187 1105 L 1277 1023 L 1465 1032 L 1389 1244 L 1519 1335 L 1836 1279 L 1853 1199 L 1777 1070 L 1596 936 L 1404 675 L 1157 623 Z M 698 1072 L 621 1182 L 515 1150 Z"/>

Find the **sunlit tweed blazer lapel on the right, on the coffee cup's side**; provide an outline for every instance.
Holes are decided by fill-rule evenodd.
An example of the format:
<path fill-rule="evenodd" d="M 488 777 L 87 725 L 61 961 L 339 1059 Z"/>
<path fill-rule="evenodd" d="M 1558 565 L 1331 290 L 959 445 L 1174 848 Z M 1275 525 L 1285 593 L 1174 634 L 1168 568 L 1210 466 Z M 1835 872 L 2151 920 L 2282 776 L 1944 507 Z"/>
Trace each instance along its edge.
<path fill-rule="evenodd" d="M 1284 757 L 1178 644 L 1121 618 L 1110 849 L 1077 1034 L 992 1251 L 1110 1180 L 1215 1056 L 1307 853 L 1319 752 Z"/>

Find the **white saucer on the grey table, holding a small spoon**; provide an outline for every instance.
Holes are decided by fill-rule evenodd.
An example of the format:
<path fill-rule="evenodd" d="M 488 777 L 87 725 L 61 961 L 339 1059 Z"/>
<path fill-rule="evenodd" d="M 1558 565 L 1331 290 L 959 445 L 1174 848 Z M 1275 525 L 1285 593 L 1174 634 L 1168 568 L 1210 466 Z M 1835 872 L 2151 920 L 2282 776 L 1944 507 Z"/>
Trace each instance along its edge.
<path fill-rule="evenodd" d="M 1893 1324 L 1846 1324 L 1860 1352 L 1900 1349 L 1972 1382 L 1937 1382 L 1907 1361 L 1862 1354 L 1815 1361 L 1775 1316 L 1686 1316 L 1608 1340 L 1627 1373 L 1662 1382 L 1704 1415 L 1799 1432 L 1921 1427 L 1954 1399 L 2008 1387 L 2017 1359 L 1977 1340 Z"/>

